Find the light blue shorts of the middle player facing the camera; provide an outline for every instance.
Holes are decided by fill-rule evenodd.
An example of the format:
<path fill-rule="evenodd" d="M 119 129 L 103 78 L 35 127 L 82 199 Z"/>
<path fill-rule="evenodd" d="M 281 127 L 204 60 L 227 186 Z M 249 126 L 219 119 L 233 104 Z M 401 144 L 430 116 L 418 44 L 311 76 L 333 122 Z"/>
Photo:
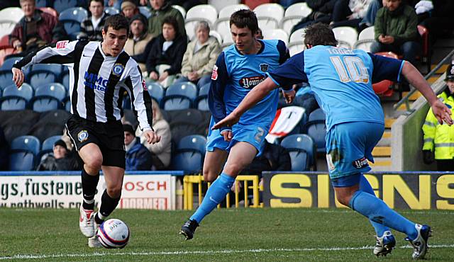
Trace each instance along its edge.
<path fill-rule="evenodd" d="M 224 137 L 221 135 L 220 130 L 211 130 L 214 125 L 214 118 L 211 117 L 208 136 L 206 137 L 206 151 L 213 152 L 214 149 L 218 148 L 230 152 L 230 149 L 236 142 L 247 142 L 252 144 L 257 149 L 260 156 L 265 147 L 265 137 L 268 134 L 269 127 L 262 125 L 242 125 L 237 123 L 232 127 L 232 139 L 231 142 L 226 142 Z"/>

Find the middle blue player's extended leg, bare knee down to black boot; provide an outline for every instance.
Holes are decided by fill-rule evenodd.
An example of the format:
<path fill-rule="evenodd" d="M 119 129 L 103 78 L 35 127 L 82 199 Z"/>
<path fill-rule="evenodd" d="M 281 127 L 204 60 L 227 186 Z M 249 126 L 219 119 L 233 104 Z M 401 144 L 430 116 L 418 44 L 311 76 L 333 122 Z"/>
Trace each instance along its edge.
<path fill-rule="evenodd" d="M 194 215 L 183 224 L 179 234 L 183 234 L 186 240 L 194 237 L 194 232 L 199 227 L 201 220 L 226 198 L 227 193 L 235 182 L 236 176 L 253 161 L 256 154 L 257 149 L 247 142 L 237 142 L 231 148 L 221 176 L 211 184 L 201 205 L 194 212 Z"/>

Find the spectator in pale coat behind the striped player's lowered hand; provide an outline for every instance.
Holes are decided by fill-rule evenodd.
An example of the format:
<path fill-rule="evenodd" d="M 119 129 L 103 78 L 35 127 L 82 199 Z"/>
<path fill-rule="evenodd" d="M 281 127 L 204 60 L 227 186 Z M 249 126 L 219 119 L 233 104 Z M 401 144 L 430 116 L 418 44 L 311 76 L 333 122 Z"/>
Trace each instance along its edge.
<path fill-rule="evenodd" d="M 162 117 L 159 105 L 154 99 L 152 99 L 151 108 L 153 109 L 153 130 L 157 135 L 160 135 L 160 142 L 148 144 L 140 128 L 135 131 L 135 135 L 140 137 L 140 142 L 151 152 L 152 170 L 163 170 L 170 165 L 172 132 L 170 132 L 170 125 Z"/>

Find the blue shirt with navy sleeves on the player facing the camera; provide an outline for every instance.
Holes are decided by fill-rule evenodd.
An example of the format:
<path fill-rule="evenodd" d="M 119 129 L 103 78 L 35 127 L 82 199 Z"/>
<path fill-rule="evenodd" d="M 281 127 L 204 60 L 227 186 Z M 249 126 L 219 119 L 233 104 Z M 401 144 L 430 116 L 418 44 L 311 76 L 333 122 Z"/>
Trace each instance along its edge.
<path fill-rule="evenodd" d="M 209 108 L 215 122 L 231 113 L 254 86 L 288 58 L 287 47 L 281 40 L 259 40 L 261 49 L 254 55 L 241 54 L 235 45 L 219 55 L 211 74 L 208 95 Z M 275 118 L 279 91 L 270 92 L 240 118 L 242 125 L 271 125 Z M 221 130 L 229 129 L 226 127 Z"/>

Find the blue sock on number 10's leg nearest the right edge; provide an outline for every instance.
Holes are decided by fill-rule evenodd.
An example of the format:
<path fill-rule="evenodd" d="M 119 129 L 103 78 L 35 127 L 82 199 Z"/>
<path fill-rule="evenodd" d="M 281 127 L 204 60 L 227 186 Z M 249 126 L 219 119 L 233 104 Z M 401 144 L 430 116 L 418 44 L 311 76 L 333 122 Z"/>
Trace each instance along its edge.
<path fill-rule="evenodd" d="M 418 232 L 414 223 L 389 208 L 380 198 L 362 190 L 356 191 L 349 203 L 350 207 L 369 220 L 384 224 L 399 232 L 405 233 L 410 239 L 416 239 Z"/>

